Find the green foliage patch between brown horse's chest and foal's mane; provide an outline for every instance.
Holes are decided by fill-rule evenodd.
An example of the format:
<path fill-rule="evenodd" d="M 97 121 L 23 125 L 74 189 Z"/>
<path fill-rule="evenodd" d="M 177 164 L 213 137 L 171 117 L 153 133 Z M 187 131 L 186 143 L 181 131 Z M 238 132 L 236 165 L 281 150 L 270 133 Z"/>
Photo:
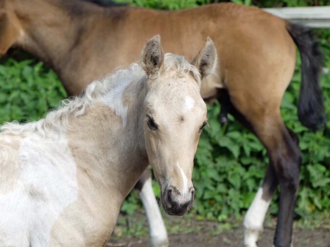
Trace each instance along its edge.
<path fill-rule="evenodd" d="M 0 81 L 0 122 L 37 120 L 66 97 L 54 71 L 31 59 L 0 64 Z"/>

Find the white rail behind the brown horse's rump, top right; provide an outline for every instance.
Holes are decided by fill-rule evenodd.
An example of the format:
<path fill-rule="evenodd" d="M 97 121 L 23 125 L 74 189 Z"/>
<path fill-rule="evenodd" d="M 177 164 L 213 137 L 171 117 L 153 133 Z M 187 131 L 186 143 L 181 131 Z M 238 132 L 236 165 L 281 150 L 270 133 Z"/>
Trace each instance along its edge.
<path fill-rule="evenodd" d="M 264 8 L 264 10 L 292 23 L 314 28 L 330 28 L 330 6 Z"/>

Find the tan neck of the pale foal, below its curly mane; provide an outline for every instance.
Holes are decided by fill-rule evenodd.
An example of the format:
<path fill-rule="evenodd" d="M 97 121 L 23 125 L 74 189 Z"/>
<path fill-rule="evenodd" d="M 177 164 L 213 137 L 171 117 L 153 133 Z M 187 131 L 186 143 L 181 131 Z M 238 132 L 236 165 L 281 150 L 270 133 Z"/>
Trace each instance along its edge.
<path fill-rule="evenodd" d="M 112 87 L 110 95 L 86 114 L 71 120 L 67 134 L 73 156 L 85 157 L 77 166 L 95 173 L 96 184 L 106 185 L 110 190 L 116 188 L 123 199 L 148 165 L 142 114 L 146 94 L 144 79 L 128 83 L 123 94 L 118 93 L 117 88 L 123 85 Z M 119 103 L 112 107 L 109 100 Z M 118 113 L 118 104 L 127 109 L 125 117 Z"/>

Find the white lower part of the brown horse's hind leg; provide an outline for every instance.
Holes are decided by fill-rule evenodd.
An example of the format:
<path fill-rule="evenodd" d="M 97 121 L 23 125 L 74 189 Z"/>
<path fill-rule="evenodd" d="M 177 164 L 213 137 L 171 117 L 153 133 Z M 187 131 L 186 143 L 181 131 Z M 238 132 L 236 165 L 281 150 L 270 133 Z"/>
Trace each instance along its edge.
<path fill-rule="evenodd" d="M 271 200 L 264 200 L 262 195 L 263 189 L 260 187 L 244 218 L 244 245 L 246 247 L 257 247 L 258 236 L 263 231 L 263 223 Z"/>

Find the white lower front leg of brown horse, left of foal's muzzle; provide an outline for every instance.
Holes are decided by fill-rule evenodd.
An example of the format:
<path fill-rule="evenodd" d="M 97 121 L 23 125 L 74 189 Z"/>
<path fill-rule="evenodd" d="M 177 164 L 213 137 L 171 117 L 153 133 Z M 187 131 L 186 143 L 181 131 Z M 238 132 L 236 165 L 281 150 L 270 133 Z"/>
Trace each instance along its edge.
<path fill-rule="evenodd" d="M 152 247 L 167 247 L 168 238 L 159 206 L 152 190 L 151 174 L 148 169 L 144 171 L 135 185 L 139 191 L 146 217 L 149 223 L 149 234 Z"/>

